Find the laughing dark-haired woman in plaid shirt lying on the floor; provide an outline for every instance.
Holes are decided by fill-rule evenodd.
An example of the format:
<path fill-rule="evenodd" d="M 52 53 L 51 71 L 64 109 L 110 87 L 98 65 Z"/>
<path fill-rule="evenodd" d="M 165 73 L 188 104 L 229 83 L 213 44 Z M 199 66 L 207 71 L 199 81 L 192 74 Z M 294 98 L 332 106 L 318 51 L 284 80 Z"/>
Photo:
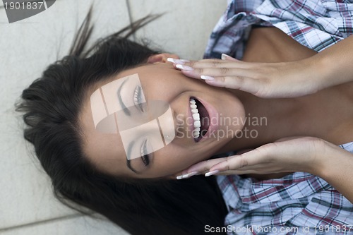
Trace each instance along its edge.
<path fill-rule="evenodd" d="M 250 1 L 247 2 L 249 4 Z M 256 3 L 261 6 L 262 1 L 254 1 L 251 7 L 255 7 Z M 229 9 L 239 11 L 237 4 L 239 1 L 229 5 L 226 16 L 229 16 Z M 231 20 L 235 25 L 239 20 L 237 17 Z M 135 27 L 143 25 L 146 20 L 140 20 Z M 24 120 L 29 126 L 25 130 L 25 138 L 35 146 L 37 157 L 52 178 L 54 192 L 63 202 L 72 201 L 100 212 L 131 234 L 205 234 L 208 229 L 215 231 L 215 234 L 232 233 L 219 229 L 225 224 L 240 228 L 249 224 L 300 227 L 306 225 L 305 221 L 312 229 L 322 224 L 352 224 L 349 220 L 352 217 L 352 204 L 340 194 L 344 193 L 352 200 L 351 192 L 346 190 L 349 185 L 347 169 L 352 165 L 352 158 L 349 158 L 351 154 L 337 150 L 337 147 L 328 143 L 340 145 L 349 143 L 353 138 L 347 131 L 352 126 L 353 117 L 353 110 L 347 109 L 353 100 L 352 83 L 296 97 L 304 94 L 298 92 L 302 86 L 295 89 L 290 85 L 297 84 L 295 80 L 288 81 L 289 86 L 280 81 L 275 89 L 268 92 L 253 90 L 256 80 L 247 80 L 261 78 L 258 76 L 260 73 L 264 79 L 275 84 L 276 79 L 279 80 L 277 71 L 284 71 L 285 68 L 285 71 L 296 71 L 299 68 L 304 74 L 301 79 L 309 83 L 310 78 L 306 79 L 305 76 L 311 73 L 306 71 L 313 71 L 313 68 L 294 65 L 306 65 L 308 60 L 305 58 L 316 58 L 316 52 L 275 28 L 253 28 L 242 59 L 304 62 L 264 65 L 232 59 L 180 61 L 175 55 L 160 54 L 118 37 L 121 32 L 85 50 L 85 42 L 90 35 L 88 25 L 89 20 L 80 30 L 79 40 L 76 40 L 79 43 L 73 47 L 70 56 L 49 66 L 42 78 L 23 91 L 23 101 L 18 104 L 18 109 L 25 112 Z M 216 41 L 222 44 L 220 40 Z M 214 46 L 217 47 L 217 44 Z M 328 56 L 322 55 L 335 59 L 331 54 L 337 55 L 341 51 L 342 47 L 337 44 L 337 47 L 327 51 Z M 175 63 L 168 63 L 168 58 Z M 181 68 L 181 72 L 175 70 L 174 66 Z M 254 67 L 256 69 L 252 69 Z M 345 63 L 342 63 L 342 68 L 349 71 Z M 331 78 L 331 73 L 322 73 Z M 170 104 L 179 132 L 166 147 L 126 161 L 121 136 L 100 133 L 95 129 L 90 96 L 103 85 L 134 74 L 140 78 L 147 102 L 162 100 Z M 292 80 L 290 76 L 297 78 L 298 73 L 283 74 Z M 208 84 L 193 79 L 200 76 L 208 78 Z M 234 78 L 243 81 L 241 84 L 244 86 L 234 82 Z M 348 78 L 342 79 L 346 81 Z M 249 88 L 246 88 L 247 84 L 250 84 Z M 318 83 L 314 81 L 311 84 Z M 240 87 L 247 92 L 219 86 Z M 292 97 L 295 98 L 282 98 L 287 95 L 285 89 L 288 87 L 294 87 Z M 257 88 L 261 89 L 261 86 Z M 323 87 L 320 85 L 318 88 Z M 306 93 L 318 88 L 309 86 Z M 277 90 L 279 92 L 276 93 Z M 281 98 L 263 99 L 249 92 L 261 97 L 272 95 Z M 134 90 L 121 88 L 121 94 L 126 94 L 123 99 L 133 99 Z M 193 107 L 194 104 L 197 107 Z M 196 117 L 193 116 L 191 123 L 187 121 L 191 113 L 196 112 L 200 121 L 213 117 L 218 119 L 198 127 Z M 246 121 L 251 117 L 265 118 L 265 122 Z M 225 118 L 237 122 L 222 123 L 220 120 Z M 246 130 L 253 131 L 256 136 L 249 137 Z M 268 144 L 298 135 L 311 138 Z M 262 148 L 241 157 L 228 158 L 227 162 L 215 158 L 226 152 L 261 145 Z M 328 154 L 329 157 L 326 157 Z M 333 159 L 333 155 L 340 159 L 340 167 L 331 164 L 333 160 L 326 164 L 328 162 L 325 161 Z M 295 160 L 293 157 L 296 157 Z M 208 161 L 202 162 L 205 160 Z M 213 167 L 219 162 L 223 163 Z M 322 165 L 312 167 L 313 163 Z M 326 168 L 327 165 L 329 168 Z M 322 174 L 318 170 L 321 166 L 332 171 L 336 179 L 327 172 Z M 222 174 L 247 175 L 217 176 L 221 191 L 213 178 L 215 176 L 193 176 L 181 181 L 176 179 L 181 174 L 184 175 L 181 178 L 187 178 L 209 169 L 228 169 Z M 317 176 L 303 172 L 288 173 L 292 171 L 307 171 Z M 312 191 L 300 191 L 310 186 Z M 316 217 L 310 218 L 313 214 Z"/>

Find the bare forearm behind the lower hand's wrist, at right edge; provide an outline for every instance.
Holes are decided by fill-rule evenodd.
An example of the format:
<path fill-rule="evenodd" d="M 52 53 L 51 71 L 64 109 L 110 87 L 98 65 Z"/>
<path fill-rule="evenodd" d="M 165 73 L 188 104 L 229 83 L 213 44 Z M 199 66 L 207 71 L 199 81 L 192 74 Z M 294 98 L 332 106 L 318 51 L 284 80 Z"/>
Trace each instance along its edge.
<path fill-rule="evenodd" d="M 313 174 L 325 179 L 337 191 L 353 203 L 353 154 L 342 148 L 326 143 L 318 153 L 318 164 Z"/>

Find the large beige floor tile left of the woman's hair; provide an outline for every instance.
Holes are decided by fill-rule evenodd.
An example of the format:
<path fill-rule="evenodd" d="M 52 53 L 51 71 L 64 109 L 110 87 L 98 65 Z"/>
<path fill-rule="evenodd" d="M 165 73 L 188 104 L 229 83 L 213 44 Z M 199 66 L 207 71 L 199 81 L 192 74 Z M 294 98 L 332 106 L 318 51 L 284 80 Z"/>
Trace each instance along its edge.
<path fill-rule="evenodd" d="M 92 3 L 58 0 L 46 11 L 11 24 L 0 9 L 0 229 L 76 213 L 52 196 L 32 146 L 23 140 L 14 103 L 45 67 L 67 54 Z M 95 1 L 93 18 L 95 38 L 123 28 L 129 23 L 126 1 Z"/>

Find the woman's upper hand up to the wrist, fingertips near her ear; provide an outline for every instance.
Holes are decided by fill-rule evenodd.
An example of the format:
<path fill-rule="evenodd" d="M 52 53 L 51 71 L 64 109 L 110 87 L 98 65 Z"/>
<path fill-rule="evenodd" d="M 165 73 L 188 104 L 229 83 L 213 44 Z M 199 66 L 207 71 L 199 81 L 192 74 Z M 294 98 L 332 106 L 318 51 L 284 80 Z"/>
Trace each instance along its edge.
<path fill-rule="evenodd" d="M 320 79 L 322 69 L 313 57 L 282 63 L 249 63 L 222 54 L 222 60 L 169 61 L 185 76 L 263 98 L 299 97 L 324 88 Z"/>

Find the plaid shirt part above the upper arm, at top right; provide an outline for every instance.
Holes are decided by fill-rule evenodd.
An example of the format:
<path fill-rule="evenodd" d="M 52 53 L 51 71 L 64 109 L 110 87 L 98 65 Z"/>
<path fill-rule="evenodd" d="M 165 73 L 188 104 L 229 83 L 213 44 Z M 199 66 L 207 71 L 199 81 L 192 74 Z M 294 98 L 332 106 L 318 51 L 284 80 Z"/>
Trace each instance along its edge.
<path fill-rule="evenodd" d="M 210 36 L 205 58 L 241 59 L 251 25 L 275 26 L 321 52 L 353 33 L 353 0 L 233 0 Z"/>

